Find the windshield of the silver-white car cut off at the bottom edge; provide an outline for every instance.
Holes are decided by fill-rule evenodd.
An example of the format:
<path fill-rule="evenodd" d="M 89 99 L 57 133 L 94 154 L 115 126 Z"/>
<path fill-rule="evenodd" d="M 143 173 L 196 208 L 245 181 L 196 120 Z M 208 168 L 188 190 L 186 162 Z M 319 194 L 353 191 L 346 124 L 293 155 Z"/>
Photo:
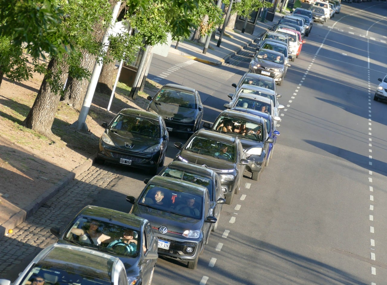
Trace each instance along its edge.
<path fill-rule="evenodd" d="M 111 268 L 113 262 L 109 262 L 111 262 Z M 60 263 L 56 263 L 56 265 L 60 265 Z M 72 268 L 73 266 L 66 266 L 66 264 L 63 264 L 62 268 L 58 267 L 53 267 L 50 264 L 34 265 L 20 284 L 28 285 L 33 284 L 34 280 L 44 280 L 45 285 L 111 285 L 111 281 L 109 281 L 111 278 L 108 276 L 108 272 L 106 274 L 103 274 L 101 271 L 92 272 L 92 264 L 87 275 L 85 275 L 84 270 Z"/>

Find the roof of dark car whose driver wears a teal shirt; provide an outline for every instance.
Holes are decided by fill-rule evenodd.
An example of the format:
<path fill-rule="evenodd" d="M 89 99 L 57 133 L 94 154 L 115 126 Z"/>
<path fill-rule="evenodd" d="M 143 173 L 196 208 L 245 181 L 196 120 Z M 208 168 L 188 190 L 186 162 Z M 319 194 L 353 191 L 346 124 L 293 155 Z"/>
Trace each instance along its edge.
<path fill-rule="evenodd" d="M 83 208 L 79 215 L 95 217 L 98 220 L 111 224 L 130 225 L 135 230 L 141 230 L 142 225 L 147 222 L 147 220 L 129 213 L 91 205 Z"/>

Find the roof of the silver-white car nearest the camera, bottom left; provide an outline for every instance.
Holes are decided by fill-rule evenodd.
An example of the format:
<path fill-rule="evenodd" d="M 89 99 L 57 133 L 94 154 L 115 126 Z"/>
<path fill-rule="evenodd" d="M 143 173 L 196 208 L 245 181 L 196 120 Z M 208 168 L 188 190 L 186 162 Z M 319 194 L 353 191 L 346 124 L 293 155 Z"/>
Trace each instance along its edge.
<path fill-rule="evenodd" d="M 111 282 L 113 264 L 120 262 L 120 259 L 109 254 L 68 244 L 53 244 L 43 254 L 36 265 L 65 271 L 75 270 L 80 275 L 93 276 L 108 282 Z"/>

